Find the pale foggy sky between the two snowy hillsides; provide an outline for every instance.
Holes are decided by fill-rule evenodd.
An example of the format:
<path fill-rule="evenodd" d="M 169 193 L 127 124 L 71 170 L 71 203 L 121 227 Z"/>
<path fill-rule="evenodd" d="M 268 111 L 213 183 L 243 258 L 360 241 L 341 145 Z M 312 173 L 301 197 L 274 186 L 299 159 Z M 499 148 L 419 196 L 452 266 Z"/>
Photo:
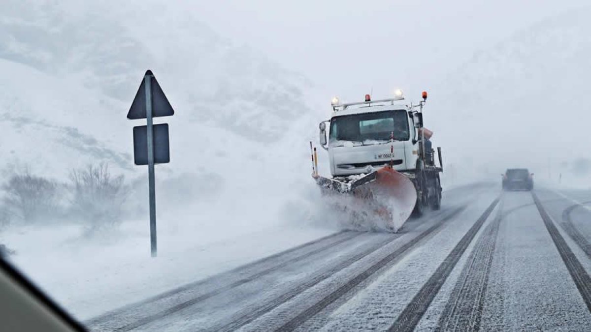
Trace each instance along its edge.
<path fill-rule="evenodd" d="M 479 49 L 584 0 L 196 1 L 196 15 L 316 83 L 359 99 L 395 87 L 417 95 Z M 327 99 L 328 100 L 328 99 Z"/>

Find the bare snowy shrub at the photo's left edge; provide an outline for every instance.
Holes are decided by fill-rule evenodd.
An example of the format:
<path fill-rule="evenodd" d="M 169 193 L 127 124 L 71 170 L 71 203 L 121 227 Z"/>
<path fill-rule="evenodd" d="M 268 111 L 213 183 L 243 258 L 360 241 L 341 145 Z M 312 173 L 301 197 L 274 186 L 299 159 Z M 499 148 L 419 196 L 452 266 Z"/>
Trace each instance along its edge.
<path fill-rule="evenodd" d="M 0 223 L 19 219 L 31 224 L 56 217 L 59 210 L 59 185 L 55 181 L 25 170 L 21 174 L 11 175 L 2 189 L 5 196 Z"/>

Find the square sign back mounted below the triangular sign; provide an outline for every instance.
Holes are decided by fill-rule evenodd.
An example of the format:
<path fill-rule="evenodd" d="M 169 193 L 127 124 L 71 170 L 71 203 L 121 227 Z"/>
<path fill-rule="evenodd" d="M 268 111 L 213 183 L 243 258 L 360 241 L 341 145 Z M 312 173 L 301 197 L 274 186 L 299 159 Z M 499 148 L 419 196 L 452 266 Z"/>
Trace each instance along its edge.
<path fill-rule="evenodd" d="M 168 124 L 152 126 L 154 134 L 154 164 L 170 162 L 168 145 Z M 148 165 L 148 126 L 134 127 L 134 162 L 136 165 Z"/>

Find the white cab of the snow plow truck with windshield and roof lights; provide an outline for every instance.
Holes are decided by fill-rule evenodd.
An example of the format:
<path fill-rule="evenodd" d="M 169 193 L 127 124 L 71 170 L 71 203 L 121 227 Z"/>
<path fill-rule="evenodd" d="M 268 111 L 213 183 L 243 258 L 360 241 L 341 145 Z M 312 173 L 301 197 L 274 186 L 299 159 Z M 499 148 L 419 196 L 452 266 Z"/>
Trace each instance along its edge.
<path fill-rule="evenodd" d="M 320 141 L 329 153 L 333 177 L 365 174 L 384 165 L 415 170 L 422 114 L 399 102 L 403 99 L 371 101 L 366 96 L 365 102 L 343 105 L 333 100 L 330 120 L 320 123 Z"/>

